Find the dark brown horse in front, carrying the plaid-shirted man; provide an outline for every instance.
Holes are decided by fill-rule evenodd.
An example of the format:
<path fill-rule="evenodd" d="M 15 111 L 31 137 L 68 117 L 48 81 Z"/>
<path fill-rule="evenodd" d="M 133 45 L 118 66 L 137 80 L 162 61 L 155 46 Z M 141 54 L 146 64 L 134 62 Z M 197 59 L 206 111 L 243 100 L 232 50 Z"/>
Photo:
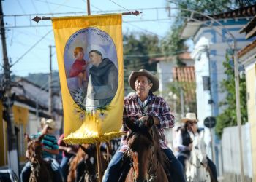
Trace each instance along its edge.
<path fill-rule="evenodd" d="M 131 130 L 127 137 L 128 155 L 132 167 L 127 174 L 126 181 L 161 181 L 167 182 L 163 154 L 159 146 L 159 132 L 154 126 L 152 116 L 144 122 L 126 120 Z"/>

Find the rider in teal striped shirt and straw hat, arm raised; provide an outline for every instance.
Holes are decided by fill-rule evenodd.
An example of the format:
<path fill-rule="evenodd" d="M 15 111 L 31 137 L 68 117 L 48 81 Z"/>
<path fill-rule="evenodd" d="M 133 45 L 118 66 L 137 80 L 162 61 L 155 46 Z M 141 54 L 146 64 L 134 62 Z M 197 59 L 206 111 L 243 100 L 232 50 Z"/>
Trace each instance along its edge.
<path fill-rule="evenodd" d="M 53 135 L 53 131 L 55 129 L 56 123 L 53 119 L 42 119 L 42 131 L 37 134 L 31 135 L 31 138 L 39 138 L 40 135 L 44 135 L 42 139 L 42 158 L 46 162 L 50 162 L 50 166 L 53 170 L 53 181 L 62 182 L 62 173 L 61 167 L 59 167 L 59 163 L 56 159 L 53 159 L 53 155 L 59 154 L 59 146 L 57 144 L 57 139 Z M 26 162 L 26 165 L 23 167 L 23 170 L 20 173 L 20 181 L 26 182 L 29 181 L 29 175 L 31 173 L 31 162 Z"/>

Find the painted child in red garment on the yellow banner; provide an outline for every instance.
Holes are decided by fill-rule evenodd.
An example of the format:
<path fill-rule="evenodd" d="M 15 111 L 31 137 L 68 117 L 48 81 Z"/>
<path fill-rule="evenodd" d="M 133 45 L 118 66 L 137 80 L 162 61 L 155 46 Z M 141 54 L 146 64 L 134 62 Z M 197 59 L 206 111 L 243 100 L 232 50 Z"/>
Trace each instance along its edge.
<path fill-rule="evenodd" d="M 69 71 L 69 78 L 78 77 L 78 87 L 83 88 L 83 82 L 87 82 L 86 60 L 83 59 L 83 47 L 75 47 L 74 50 L 75 62 Z"/>

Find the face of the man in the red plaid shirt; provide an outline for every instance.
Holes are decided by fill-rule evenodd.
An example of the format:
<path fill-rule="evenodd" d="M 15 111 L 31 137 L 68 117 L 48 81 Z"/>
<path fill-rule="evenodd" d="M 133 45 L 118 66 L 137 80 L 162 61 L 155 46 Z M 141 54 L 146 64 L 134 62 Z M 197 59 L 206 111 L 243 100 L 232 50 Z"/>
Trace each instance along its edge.
<path fill-rule="evenodd" d="M 148 82 L 146 76 L 138 76 L 135 80 L 135 90 L 138 94 L 148 94 L 152 86 L 153 84 Z"/>

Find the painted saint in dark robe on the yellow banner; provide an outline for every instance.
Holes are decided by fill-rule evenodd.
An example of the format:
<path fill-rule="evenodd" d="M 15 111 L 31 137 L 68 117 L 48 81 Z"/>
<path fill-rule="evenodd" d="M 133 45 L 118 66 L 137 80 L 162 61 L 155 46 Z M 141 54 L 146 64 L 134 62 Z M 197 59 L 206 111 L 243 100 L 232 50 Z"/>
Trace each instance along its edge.
<path fill-rule="evenodd" d="M 105 58 L 105 51 L 98 45 L 90 47 L 89 58 L 92 66 L 89 69 L 86 107 L 90 110 L 110 104 L 118 87 L 118 69 L 109 58 Z"/>

